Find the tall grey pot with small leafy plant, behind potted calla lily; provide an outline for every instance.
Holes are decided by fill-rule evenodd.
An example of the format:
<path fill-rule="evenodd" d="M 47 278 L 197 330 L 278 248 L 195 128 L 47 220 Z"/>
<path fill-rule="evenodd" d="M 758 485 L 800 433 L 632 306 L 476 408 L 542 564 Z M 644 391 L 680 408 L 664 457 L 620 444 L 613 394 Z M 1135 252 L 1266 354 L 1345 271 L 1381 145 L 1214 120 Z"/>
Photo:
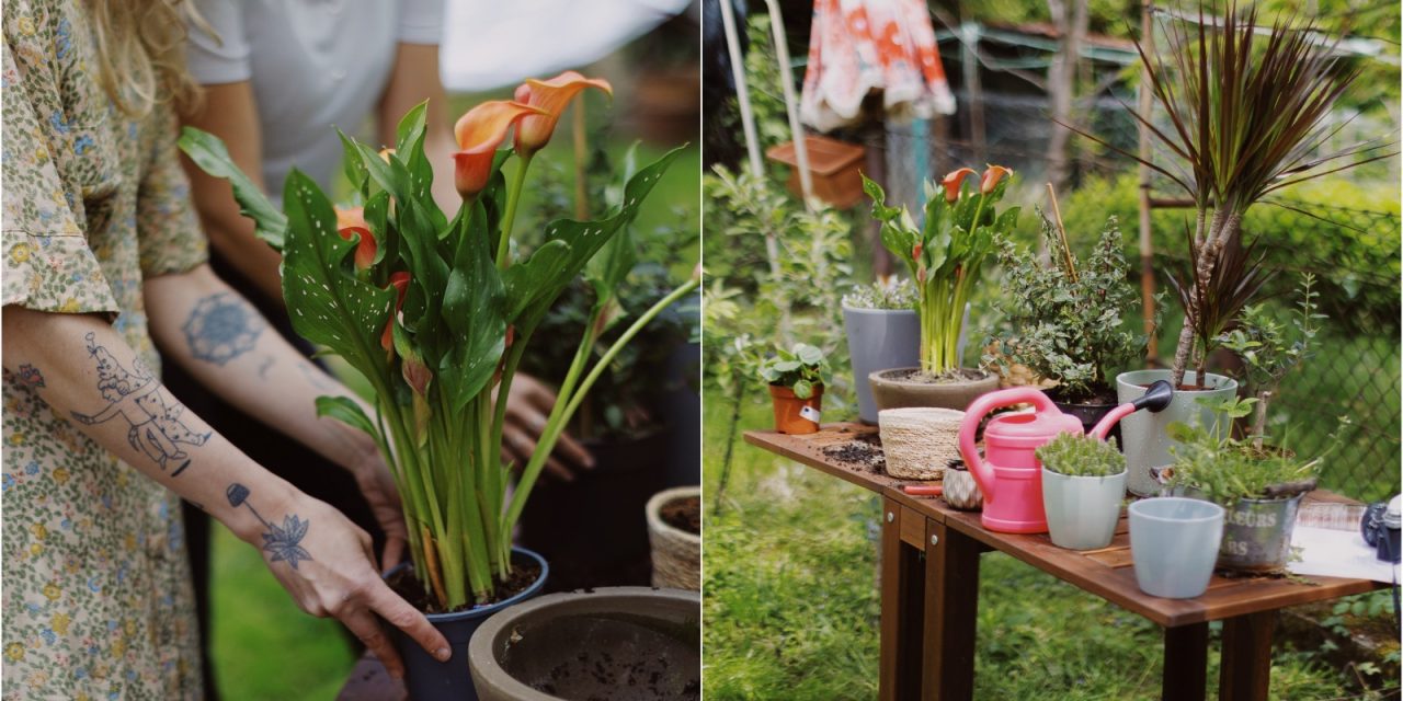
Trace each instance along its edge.
<path fill-rule="evenodd" d="M 863 423 L 877 423 L 877 402 L 867 376 L 920 362 L 915 286 L 895 278 L 854 286 L 843 296 L 843 329 L 857 388 L 857 415 Z"/>

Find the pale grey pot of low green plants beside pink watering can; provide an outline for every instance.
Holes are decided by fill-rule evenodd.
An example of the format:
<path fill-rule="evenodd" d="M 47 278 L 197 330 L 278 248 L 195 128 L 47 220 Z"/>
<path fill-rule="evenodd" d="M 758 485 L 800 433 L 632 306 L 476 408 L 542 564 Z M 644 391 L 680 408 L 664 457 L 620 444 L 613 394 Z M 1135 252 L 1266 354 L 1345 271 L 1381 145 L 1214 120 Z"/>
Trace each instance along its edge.
<path fill-rule="evenodd" d="M 1042 509 L 1052 544 L 1096 550 L 1111 544 L 1125 498 L 1125 456 L 1115 439 L 1059 433 L 1037 449 Z"/>

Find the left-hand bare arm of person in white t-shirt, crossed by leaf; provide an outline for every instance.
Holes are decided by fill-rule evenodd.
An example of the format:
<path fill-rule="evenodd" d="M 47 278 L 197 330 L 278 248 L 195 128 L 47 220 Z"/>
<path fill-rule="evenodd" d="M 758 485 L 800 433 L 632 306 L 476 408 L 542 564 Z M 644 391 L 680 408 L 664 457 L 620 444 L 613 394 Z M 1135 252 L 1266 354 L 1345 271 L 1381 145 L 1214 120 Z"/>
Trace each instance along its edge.
<path fill-rule="evenodd" d="M 241 80 L 205 86 L 203 104 L 198 111 L 182 115 L 181 122 L 220 137 L 229 147 L 229 156 L 248 179 L 267 189 L 262 181 L 262 132 L 253 83 Z M 229 181 L 209 175 L 185 156 L 181 156 L 181 164 L 189 177 L 191 195 L 209 244 L 253 282 L 262 296 L 282 306 L 282 275 L 278 272 L 282 257 L 254 237 L 254 223 L 239 213 Z"/>

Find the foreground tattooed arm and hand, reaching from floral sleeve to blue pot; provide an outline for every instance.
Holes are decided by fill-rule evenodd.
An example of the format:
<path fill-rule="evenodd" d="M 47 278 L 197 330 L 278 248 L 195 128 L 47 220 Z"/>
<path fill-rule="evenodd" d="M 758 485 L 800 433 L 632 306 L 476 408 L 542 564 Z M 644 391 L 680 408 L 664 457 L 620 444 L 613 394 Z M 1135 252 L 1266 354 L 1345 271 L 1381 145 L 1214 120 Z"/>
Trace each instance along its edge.
<path fill-rule="evenodd" d="M 304 611 L 340 618 L 391 674 L 403 663 L 376 614 L 448 659 L 448 641 L 380 579 L 363 530 L 187 411 L 100 317 L 7 306 L 0 324 L 7 370 L 29 377 L 55 415 L 260 548 Z"/>

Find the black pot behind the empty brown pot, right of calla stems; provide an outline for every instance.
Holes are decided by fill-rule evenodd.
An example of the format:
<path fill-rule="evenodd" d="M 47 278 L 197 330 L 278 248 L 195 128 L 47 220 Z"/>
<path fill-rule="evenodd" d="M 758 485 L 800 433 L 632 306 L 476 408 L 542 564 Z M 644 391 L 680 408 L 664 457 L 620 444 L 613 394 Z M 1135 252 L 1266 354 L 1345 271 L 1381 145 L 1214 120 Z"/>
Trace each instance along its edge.
<path fill-rule="evenodd" d="M 585 442 L 593 470 L 532 489 L 519 541 L 550 561 L 547 593 L 648 586 L 644 509 L 666 484 L 669 436 L 658 428 L 636 439 Z"/>

